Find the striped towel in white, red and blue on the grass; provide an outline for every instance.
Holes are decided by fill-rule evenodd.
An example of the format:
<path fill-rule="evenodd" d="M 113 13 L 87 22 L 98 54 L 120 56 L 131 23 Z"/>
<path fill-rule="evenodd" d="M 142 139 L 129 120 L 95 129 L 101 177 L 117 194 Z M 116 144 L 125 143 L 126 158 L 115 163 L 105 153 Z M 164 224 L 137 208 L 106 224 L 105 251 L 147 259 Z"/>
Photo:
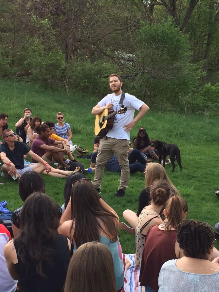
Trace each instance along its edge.
<path fill-rule="evenodd" d="M 124 287 L 122 292 L 145 292 L 144 286 L 139 286 L 138 282 L 140 267 L 135 266 L 135 253 L 126 255 L 122 254 Z"/>

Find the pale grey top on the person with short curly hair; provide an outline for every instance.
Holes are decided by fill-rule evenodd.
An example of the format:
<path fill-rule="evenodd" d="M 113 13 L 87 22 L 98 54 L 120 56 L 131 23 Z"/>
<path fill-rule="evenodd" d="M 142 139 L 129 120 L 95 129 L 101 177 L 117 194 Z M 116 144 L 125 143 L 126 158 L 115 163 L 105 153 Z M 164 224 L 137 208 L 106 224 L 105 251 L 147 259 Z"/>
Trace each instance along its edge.
<path fill-rule="evenodd" d="M 179 270 L 176 260 L 168 260 L 161 267 L 159 292 L 218 292 L 219 272 L 215 274 L 194 274 Z"/>

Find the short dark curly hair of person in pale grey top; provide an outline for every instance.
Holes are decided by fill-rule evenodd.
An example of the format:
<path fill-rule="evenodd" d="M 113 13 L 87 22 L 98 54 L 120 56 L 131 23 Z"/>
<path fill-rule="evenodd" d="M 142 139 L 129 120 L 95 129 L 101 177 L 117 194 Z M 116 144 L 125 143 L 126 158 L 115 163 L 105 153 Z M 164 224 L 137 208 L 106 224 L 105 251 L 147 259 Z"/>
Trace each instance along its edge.
<path fill-rule="evenodd" d="M 206 259 L 213 247 L 214 230 L 205 222 L 183 220 L 176 227 L 177 242 L 185 256 Z"/>

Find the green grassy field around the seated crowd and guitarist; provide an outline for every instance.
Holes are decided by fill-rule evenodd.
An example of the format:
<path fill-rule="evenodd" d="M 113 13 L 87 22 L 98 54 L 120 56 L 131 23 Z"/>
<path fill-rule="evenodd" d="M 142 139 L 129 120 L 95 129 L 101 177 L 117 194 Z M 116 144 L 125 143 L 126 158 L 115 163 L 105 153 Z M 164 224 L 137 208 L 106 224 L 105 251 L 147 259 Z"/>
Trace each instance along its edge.
<path fill-rule="evenodd" d="M 94 116 L 91 115 L 91 109 L 98 102 L 95 96 L 74 92 L 67 98 L 67 94 L 63 91 L 54 95 L 31 84 L 0 80 L 0 100 L 0 112 L 9 115 L 9 128 L 15 130 L 15 122 L 22 117 L 25 107 L 30 107 L 32 116 L 38 115 L 43 121 L 56 122 L 55 115 L 61 111 L 64 113 L 65 121 L 71 125 L 73 144 L 92 151 Z M 205 221 L 214 227 L 219 221 L 219 201 L 214 194 L 215 189 L 219 187 L 218 119 L 206 122 L 198 115 L 183 116 L 150 110 L 133 128 L 130 140 L 137 135 L 140 127 L 146 128 L 151 139 L 175 143 L 179 146 L 183 171 L 180 172 L 177 166 L 172 173 L 171 165 L 167 165 L 168 176 L 188 203 L 187 219 Z M 86 167 L 89 166 L 90 161 L 86 159 L 80 161 L 85 163 Z M 93 179 L 94 173 L 87 176 Z M 65 179 L 51 178 L 47 175 L 43 178 L 46 194 L 62 205 Z M 131 175 L 126 196 L 116 198 L 119 179 L 120 173 L 105 170 L 101 193 L 123 221 L 122 212 L 125 209 L 137 211 L 138 196 L 145 186 L 145 178 L 142 173 Z M 18 184 L 12 180 L 3 178 L 1 180 L 4 185 L 0 185 L 0 201 L 6 200 L 8 208 L 13 211 L 22 205 Z M 134 236 L 121 232 L 119 237 L 123 252 L 133 253 Z M 218 244 L 216 246 L 219 247 Z"/>

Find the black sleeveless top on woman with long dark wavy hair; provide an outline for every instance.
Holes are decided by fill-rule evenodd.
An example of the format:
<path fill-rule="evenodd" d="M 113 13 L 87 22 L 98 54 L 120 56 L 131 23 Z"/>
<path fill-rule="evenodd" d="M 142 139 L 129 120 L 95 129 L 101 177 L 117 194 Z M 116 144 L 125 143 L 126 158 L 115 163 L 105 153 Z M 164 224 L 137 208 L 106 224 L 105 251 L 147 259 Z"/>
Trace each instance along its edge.
<path fill-rule="evenodd" d="M 46 246 L 54 251 L 50 262 L 44 262 L 42 270 L 46 278 L 36 272 L 34 262 L 27 255 L 29 266 L 22 263 L 19 255 L 19 241 L 14 240 L 14 246 L 18 257 L 15 269 L 19 277 L 19 292 L 62 292 L 70 260 L 70 252 L 67 238 L 57 234 L 54 241 L 48 242 Z"/>

